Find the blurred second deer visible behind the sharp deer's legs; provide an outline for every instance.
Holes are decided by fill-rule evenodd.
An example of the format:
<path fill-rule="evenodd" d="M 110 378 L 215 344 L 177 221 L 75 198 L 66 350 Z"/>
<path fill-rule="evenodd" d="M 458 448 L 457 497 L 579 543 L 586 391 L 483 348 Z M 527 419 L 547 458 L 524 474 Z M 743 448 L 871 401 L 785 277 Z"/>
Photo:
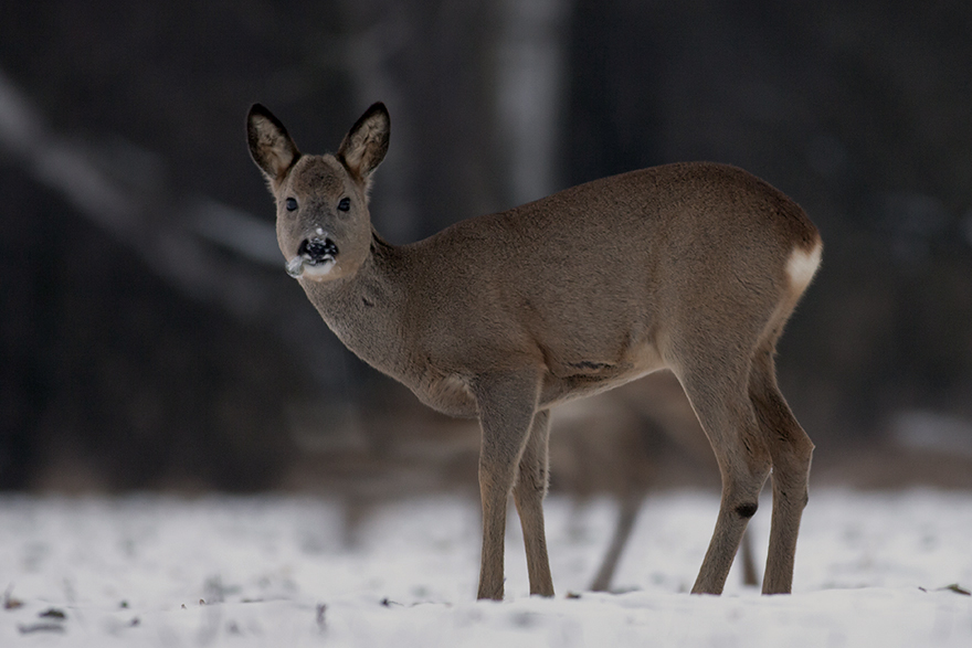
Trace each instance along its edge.
<path fill-rule="evenodd" d="M 591 434 L 592 427 L 596 435 Z M 715 459 L 712 452 L 682 386 L 668 371 L 561 405 L 551 436 L 554 487 L 569 492 L 575 503 L 596 495 L 617 501 L 611 542 L 589 587 L 608 592 L 645 498 L 658 480 L 665 480 L 662 474 L 691 465 L 708 468 Z M 743 584 L 758 585 L 750 533 L 742 535 L 739 557 Z"/>

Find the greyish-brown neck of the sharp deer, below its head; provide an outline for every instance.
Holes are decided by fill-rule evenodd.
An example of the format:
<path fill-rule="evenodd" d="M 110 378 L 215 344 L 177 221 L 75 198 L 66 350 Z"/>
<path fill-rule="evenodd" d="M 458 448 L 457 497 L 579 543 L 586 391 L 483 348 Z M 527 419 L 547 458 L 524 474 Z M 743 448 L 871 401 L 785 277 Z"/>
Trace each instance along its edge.
<path fill-rule="evenodd" d="M 372 232 L 371 251 L 353 276 L 300 281 L 328 328 L 368 364 L 402 380 L 409 354 L 402 343 L 404 295 L 397 272 L 402 249 Z"/>

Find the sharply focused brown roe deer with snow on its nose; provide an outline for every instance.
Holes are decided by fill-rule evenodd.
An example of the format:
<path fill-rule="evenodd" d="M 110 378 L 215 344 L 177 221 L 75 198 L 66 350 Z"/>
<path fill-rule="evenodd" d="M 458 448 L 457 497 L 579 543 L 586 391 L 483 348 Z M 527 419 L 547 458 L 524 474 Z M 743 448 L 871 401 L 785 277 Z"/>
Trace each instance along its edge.
<path fill-rule="evenodd" d="M 668 368 L 722 476 L 693 587 L 722 591 L 772 469 L 763 592 L 790 592 L 813 444 L 776 387 L 774 347 L 813 278 L 816 227 L 739 169 L 668 164 L 595 180 L 395 246 L 368 190 L 390 118 L 371 106 L 334 155 L 302 155 L 254 105 L 250 152 L 276 200 L 277 241 L 328 327 L 426 405 L 478 416 L 479 598 L 503 598 L 513 492 L 530 593 L 553 595 L 542 500 L 550 407 Z"/>

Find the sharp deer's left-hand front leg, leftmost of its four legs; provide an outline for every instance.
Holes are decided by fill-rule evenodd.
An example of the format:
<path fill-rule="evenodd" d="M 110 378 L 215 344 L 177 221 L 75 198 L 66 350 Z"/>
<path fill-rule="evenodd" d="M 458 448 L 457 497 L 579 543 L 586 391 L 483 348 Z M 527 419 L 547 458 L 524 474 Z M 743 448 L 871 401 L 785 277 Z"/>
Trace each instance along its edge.
<path fill-rule="evenodd" d="M 507 503 L 533 422 L 538 382 L 532 374 L 504 375 L 479 379 L 474 385 L 483 429 L 479 449 L 483 556 L 477 598 L 503 599 Z"/>

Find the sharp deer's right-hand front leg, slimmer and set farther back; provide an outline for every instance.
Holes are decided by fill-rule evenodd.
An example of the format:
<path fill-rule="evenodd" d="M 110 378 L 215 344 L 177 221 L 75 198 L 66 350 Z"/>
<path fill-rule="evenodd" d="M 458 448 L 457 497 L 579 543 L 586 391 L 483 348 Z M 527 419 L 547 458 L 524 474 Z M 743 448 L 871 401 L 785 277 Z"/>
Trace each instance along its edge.
<path fill-rule="evenodd" d="M 533 415 L 530 436 L 520 457 L 519 474 L 513 489 L 514 501 L 524 529 L 527 550 L 527 571 L 530 575 L 530 594 L 553 596 L 553 580 L 547 557 L 547 535 L 543 530 L 543 498 L 549 486 L 550 463 L 550 411 Z"/>

